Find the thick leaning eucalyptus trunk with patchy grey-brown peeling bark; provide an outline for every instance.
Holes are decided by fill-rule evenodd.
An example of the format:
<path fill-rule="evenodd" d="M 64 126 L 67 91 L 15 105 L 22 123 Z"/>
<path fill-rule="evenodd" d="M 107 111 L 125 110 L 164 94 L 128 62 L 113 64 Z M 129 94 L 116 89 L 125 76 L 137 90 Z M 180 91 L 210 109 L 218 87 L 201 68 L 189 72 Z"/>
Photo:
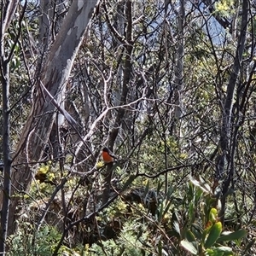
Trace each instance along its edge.
<path fill-rule="evenodd" d="M 83 41 L 85 28 L 96 2 L 96 0 L 73 1 L 61 30 L 49 50 L 44 70 L 38 79 L 37 96 L 20 137 L 20 143 L 16 148 L 15 170 L 12 174 L 15 188 L 12 190 L 12 195 L 15 196 L 12 197 L 10 205 L 9 234 L 15 232 L 15 220 L 20 210 L 20 196 L 16 194 L 28 189 L 32 179 L 32 166 L 29 162 L 38 161 L 42 157 L 44 145 L 49 139 L 49 133 L 55 120 L 55 107 L 51 103 L 50 96 L 45 93 L 44 87 L 60 103 L 60 91 L 67 84 L 74 58 Z"/>

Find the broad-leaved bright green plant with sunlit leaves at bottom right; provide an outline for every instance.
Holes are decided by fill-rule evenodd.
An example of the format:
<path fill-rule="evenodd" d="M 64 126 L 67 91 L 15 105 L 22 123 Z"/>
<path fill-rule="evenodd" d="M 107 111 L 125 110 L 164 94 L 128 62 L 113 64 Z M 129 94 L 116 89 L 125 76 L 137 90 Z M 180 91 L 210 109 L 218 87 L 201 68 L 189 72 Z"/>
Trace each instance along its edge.
<path fill-rule="evenodd" d="M 218 200 L 214 199 L 210 186 L 203 180 L 197 182 L 192 178 L 188 194 L 192 200 L 188 217 L 192 221 L 188 219 L 189 225 L 184 227 L 181 246 L 194 255 L 233 255 L 232 247 L 225 246 L 224 241 L 240 240 L 247 235 L 247 231 L 223 232 L 222 223 L 218 220 L 218 209 L 212 208 L 212 203 L 216 204 Z M 204 207 L 199 208 L 201 204 Z M 192 214 L 195 208 L 198 217 Z"/>

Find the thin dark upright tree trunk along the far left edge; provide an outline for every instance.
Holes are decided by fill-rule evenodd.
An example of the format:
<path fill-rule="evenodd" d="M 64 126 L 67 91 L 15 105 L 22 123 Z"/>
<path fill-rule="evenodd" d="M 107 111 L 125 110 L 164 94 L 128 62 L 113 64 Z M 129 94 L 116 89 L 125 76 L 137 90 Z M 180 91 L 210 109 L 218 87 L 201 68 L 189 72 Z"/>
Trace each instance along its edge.
<path fill-rule="evenodd" d="M 6 238 L 8 233 L 8 222 L 9 222 L 9 204 L 10 204 L 10 191 L 11 191 L 11 156 L 10 156 L 10 119 L 9 119 L 9 62 L 13 55 L 13 50 L 6 50 L 5 46 L 5 34 L 9 29 L 10 21 L 15 15 L 19 1 L 10 1 L 8 3 L 1 2 L 1 32 L 0 32 L 0 79 L 3 91 L 3 200 L 2 214 L 1 214 L 1 240 L 0 240 L 0 253 L 5 255 Z M 26 3 L 25 7 L 26 8 Z M 20 15 L 22 20 L 24 12 Z M 20 28 L 21 29 L 21 28 Z M 20 30 L 18 36 L 20 35 Z M 16 41 L 17 44 L 17 41 Z M 7 53 L 6 53 L 7 52 Z"/>

